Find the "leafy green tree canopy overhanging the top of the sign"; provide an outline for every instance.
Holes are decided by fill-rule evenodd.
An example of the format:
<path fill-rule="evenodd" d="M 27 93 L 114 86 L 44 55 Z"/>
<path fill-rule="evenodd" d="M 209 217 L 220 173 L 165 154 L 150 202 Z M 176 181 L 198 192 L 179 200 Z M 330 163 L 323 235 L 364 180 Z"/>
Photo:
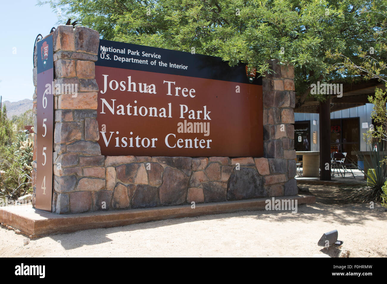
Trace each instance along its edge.
<path fill-rule="evenodd" d="M 386 42 L 386 0 L 51 0 L 65 17 L 77 17 L 115 41 L 220 56 L 264 74 L 268 59 L 295 66 L 298 106 L 310 85 L 360 80 L 359 48 Z M 65 22 L 62 19 L 62 22 Z M 380 31 L 381 33 L 375 33 Z M 376 38 L 375 38 L 376 37 Z M 341 54 L 342 56 L 334 56 Z M 375 54 L 378 62 L 385 60 Z M 340 65 L 341 63 L 341 65 Z M 325 100 L 325 95 L 313 95 Z"/>

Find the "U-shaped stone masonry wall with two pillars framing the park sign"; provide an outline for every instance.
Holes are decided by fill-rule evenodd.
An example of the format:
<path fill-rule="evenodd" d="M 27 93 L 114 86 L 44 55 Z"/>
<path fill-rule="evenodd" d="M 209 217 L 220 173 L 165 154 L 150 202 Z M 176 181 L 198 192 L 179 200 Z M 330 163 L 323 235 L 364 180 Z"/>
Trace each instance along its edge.
<path fill-rule="evenodd" d="M 98 32 L 59 26 L 53 33 L 55 84 L 77 95 L 54 97 L 52 212 L 81 213 L 297 194 L 293 68 L 270 61 L 263 79 L 264 157 L 103 156 L 98 144 Z M 36 86 L 36 58 L 34 59 Z M 36 128 L 36 87 L 34 121 Z M 36 142 L 35 133 L 35 142 Z M 33 162 L 36 190 L 36 143 Z"/>

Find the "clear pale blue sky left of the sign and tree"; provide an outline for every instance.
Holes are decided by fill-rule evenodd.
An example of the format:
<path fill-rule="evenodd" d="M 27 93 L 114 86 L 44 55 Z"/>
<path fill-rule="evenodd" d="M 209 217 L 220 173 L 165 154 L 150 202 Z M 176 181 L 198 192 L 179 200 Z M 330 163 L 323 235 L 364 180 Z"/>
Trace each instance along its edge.
<path fill-rule="evenodd" d="M 35 38 L 38 34 L 46 36 L 51 27 L 57 26 L 57 13 L 49 5 L 39 7 L 36 3 L 36 0 L 0 1 L 3 11 L 0 29 L 0 95 L 3 101 L 32 100 Z"/>

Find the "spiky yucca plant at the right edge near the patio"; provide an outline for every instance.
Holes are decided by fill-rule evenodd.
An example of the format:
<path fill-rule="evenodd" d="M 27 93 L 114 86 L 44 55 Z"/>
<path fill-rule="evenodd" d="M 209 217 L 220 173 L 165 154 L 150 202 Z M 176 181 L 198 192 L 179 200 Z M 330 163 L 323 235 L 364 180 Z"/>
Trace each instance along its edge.
<path fill-rule="evenodd" d="M 360 160 L 363 160 L 365 168 L 368 168 L 367 172 L 361 170 L 367 179 L 342 185 L 336 192 L 343 195 L 343 201 L 348 203 L 383 201 L 383 186 L 387 179 L 387 165 L 383 160 L 387 147 L 385 142 L 377 142 L 376 146 L 377 148 L 373 149 L 371 145 L 367 145 L 371 153 L 370 160 L 365 159 L 361 152 L 357 153 Z"/>

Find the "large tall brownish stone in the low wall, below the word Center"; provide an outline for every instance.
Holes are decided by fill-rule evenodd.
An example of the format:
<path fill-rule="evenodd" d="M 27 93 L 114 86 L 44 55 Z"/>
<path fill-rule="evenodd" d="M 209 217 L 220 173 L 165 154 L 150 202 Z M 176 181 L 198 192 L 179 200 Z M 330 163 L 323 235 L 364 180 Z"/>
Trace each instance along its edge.
<path fill-rule="evenodd" d="M 178 205 L 186 201 L 188 177 L 174 168 L 164 170 L 163 184 L 159 187 L 161 205 Z M 137 192 L 137 190 L 136 190 Z"/>

